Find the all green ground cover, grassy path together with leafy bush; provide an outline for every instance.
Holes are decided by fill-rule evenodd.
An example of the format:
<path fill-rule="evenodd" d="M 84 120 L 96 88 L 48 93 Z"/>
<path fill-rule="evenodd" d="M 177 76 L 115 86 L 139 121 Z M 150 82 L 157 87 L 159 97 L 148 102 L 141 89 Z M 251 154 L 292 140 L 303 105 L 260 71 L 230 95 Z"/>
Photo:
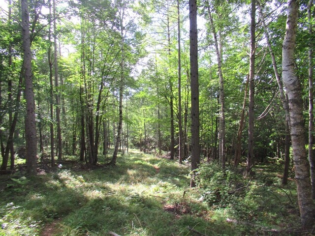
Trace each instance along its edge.
<path fill-rule="evenodd" d="M 263 173 L 250 179 L 204 165 L 198 187 L 191 189 L 189 166 L 132 150 L 119 156 L 116 166 L 91 170 L 64 164 L 31 178 L 0 176 L 0 236 L 47 236 L 49 225 L 54 236 L 269 234 L 226 218 L 264 229 L 293 227 L 294 186 L 283 187 L 276 177 L 264 184 Z"/>

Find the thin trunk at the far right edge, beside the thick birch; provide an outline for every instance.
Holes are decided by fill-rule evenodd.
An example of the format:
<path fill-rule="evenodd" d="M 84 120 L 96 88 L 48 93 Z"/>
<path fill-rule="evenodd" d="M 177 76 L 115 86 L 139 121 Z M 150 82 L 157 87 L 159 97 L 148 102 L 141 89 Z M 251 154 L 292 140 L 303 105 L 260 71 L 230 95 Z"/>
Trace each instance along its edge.
<path fill-rule="evenodd" d="M 312 18 L 313 0 L 308 4 L 308 21 L 309 21 L 309 35 L 313 35 L 313 22 Z M 312 198 L 315 199 L 315 153 L 314 153 L 314 89 L 313 89 L 313 48 L 314 43 L 310 40 L 309 45 L 309 162 L 311 169 L 311 183 L 312 183 Z"/>

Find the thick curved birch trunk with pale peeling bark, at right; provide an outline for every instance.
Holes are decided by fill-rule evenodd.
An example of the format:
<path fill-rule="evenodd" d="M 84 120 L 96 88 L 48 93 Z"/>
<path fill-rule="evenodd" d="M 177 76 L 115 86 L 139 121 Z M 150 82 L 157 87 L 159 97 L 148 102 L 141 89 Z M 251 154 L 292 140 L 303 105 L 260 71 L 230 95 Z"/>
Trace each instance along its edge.
<path fill-rule="evenodd" d="M 291 120 L 289 125 L 301 223 L 304 228 L 309 228 L 314 226 L 314 202 L 311 193 L 310 167 L 305 148 L 302 86 L 294 68 L 298 9 L 297 0 L 287 1 L 287 19 L 282 47 L 282 79 L 289 98 Z"/>

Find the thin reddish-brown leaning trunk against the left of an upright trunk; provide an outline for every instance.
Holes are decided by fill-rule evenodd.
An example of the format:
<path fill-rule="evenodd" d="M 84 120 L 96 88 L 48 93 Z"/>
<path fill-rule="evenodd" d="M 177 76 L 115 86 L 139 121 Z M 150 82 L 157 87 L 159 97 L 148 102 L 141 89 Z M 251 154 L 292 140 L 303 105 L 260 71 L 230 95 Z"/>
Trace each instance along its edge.
<path fill-rule="evenodd" d="M 245 84 L 245 93 L 244 93 L 244 101 L 243 101 L 243 107 L 242 107 L 242 113 L 241 113 L 241 119 L 240 119 L 240 126 L 237 132 L 235 156 L 234 156 L 234 167 L 236 167 L 239 164 L 240 159 L 241 159 L 241 154 L 242 154 L 242 133 L 243 133 L 244 122 L 245 122 L 245 108 L 246 108 L 248 83 L 249 83 L 249 76 L 247 77 L 246 84 Z"/>

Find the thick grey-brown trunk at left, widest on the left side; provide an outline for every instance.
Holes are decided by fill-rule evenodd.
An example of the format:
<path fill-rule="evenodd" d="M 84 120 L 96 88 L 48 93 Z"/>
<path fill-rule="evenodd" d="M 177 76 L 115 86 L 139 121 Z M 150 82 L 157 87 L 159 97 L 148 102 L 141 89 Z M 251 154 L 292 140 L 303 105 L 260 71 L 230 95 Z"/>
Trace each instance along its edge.
<path fill-rule="evenodd" d="M 25 138 L 26 138 L 26 164 L 27 173 L 36 175 L 37 162 L 37 139 L 36 139 L 36 120 L 35 102 L 32 82 L 32 52 L 30 37 L 30 20 L 28 11 L 28 1 L 21 0 L 22 11 L 22 37 L 23 37 L 23 65 L 25 75 L 25 98 L 26 98 L 26 118 L 25 118 Z"/>

